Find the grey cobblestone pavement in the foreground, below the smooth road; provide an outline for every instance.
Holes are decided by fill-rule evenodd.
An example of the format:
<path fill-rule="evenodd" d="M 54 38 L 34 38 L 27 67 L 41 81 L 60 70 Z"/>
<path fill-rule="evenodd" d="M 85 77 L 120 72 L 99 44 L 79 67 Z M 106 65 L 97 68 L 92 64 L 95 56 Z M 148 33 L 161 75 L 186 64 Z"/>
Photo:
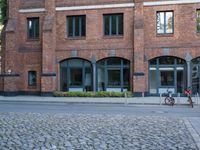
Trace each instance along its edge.
<path fill-rule="evenodd" d="M 169 117 L 0 113 L 2 150 L 197 150 L 184 121 Z"/>

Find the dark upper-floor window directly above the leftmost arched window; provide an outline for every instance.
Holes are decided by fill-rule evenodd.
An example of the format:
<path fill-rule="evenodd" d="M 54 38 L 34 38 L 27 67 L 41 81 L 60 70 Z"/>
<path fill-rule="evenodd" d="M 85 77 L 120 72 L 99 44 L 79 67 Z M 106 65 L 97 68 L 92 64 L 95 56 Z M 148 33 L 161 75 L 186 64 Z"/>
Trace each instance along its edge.
<path fill-rule="evenodd" d="M 68 16 L 67 31 L 68 37 L 84 37 L 86 33 L 85 16 Z"/>

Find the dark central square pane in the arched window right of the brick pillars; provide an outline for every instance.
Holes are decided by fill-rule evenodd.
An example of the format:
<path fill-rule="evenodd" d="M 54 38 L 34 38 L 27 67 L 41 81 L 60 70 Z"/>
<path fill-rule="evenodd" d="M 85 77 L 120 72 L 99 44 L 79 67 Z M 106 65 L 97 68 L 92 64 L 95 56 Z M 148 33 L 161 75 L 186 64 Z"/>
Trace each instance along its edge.
<path fill-rule="evenodd" d="M 160 71 L 161 86 L 174 86 L 174 70 Z"/>

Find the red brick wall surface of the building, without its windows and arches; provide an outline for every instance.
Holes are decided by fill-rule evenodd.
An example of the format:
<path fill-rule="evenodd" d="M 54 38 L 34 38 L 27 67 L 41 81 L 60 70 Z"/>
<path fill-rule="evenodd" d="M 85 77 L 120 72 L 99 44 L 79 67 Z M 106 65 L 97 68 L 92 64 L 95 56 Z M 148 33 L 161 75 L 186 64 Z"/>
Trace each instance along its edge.
<path fill-rule="evenodd" d="M 166 0 L 167 1 L 167 0 Z M 51 93 L 60 90 L 60 62 L 74 57 L 98 62 L 110 56 L 130 61 L 130 90 L 149 92 L 149 60 L 160 56 L 200 56 L 196 10 L 200 3 L 144 5 L 151 0 L 9 0 L 9 18 L 2 45 L 3 93 Z M 153 1 L 160 2 L 160 1 Z M 59 7 L 134 4 L 134 6 L 58 11 Z M 45 11 L 33 11 L 34 9 Z M 20 11 L 30 10 L 30 11 Z M 32 11 L 31 11 L 32 10 Z M 156 34 L 156 12 L 174 12 L 174 34 Z M 105 37 L 103 14 L 123 13 L 124 34 Z M 67 37 L 66 16 L 86 15 L 86 37 Z M 39 17 L 38 40 L 27 38 L 27 18 Z M 165 51 L 167 49 L 167 53 Z M 28 86 L 28 71 L 37 71 L 37 85 Z M 139 75 L 138 75 L 139 74 Z"/>

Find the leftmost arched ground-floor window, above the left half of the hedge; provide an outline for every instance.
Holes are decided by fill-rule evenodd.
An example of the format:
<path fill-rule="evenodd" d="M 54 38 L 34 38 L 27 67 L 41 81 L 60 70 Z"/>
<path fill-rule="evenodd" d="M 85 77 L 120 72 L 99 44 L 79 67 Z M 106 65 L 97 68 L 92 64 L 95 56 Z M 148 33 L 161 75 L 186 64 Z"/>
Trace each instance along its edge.
<path fill-rule="evenodd" d="M 92 66 L 82 59 L 68 59 L 60 63 L 62 91 L 92 91 Z"/>

